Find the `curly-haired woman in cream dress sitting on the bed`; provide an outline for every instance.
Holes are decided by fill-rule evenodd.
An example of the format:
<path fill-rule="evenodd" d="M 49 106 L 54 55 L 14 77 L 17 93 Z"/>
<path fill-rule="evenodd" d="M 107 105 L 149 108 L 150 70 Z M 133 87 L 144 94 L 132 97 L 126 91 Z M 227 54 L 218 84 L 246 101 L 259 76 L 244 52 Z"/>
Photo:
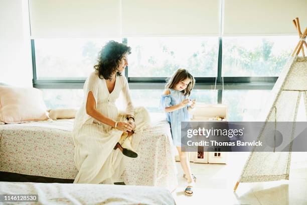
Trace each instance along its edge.
<path fill-rule="evenodd" d="M 84 83 L 85 97 L 73 128 L 74 160 L 79 170 L 74 183 L 113 183 L 124 170 L 123 154 L 137 156 L 130 140 L 133 132 L 149 124 L 149 116 L 145 109 L 133 108 L 128 82 L 121 74 L 130 50 L 124 44 L 108 42 Z M 126 99 L 125 113 L 115 106 L 120 92 Z"/>

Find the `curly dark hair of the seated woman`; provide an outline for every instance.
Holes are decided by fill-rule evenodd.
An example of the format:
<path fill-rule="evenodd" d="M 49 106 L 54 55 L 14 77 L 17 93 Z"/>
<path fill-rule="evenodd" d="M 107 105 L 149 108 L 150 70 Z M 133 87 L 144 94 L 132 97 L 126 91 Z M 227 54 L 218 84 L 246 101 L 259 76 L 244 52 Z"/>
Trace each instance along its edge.
<path fill-rule="evenodd" d="M 94 65 L 94 69 L 99 78 L 111 80 L 112 73 L 117 71 L 120 60 L 125 53 L 131 53 L 129 46 L 116 41 L 106 43 L 99 52 L 98 64 Z M 121 73 L 117 71 L 116 75 L 119 76 Z"/>

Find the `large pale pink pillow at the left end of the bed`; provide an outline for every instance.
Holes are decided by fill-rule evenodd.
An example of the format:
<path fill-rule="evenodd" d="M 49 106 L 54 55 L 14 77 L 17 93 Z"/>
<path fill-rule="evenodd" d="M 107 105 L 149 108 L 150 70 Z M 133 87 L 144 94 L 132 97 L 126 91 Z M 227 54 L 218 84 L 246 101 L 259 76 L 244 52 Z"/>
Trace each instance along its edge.
<path fill-rule="evenodd" d="M 0 86 L 0 121 L 8 124 L 47 120 L 41 90 Z"/>

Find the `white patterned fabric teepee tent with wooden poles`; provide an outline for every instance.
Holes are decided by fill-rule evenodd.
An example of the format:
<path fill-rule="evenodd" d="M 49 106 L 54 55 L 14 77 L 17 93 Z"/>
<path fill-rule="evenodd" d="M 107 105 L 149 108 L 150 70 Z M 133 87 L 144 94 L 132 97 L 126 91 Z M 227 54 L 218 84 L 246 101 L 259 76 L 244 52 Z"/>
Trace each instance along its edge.
<path fill-rule="evenodd" d="M 305 37 L 307 28 L 301 34 L 298 19 L 293 20 L 296 24 L 300 40 L 293 51 L 287 64 L 278 77 L 272 91 L 268 107 L 264 109 L 262 120 L 265 122 L 295 122 L 300 97 L 303 96 L 305 115 L 307 116 L 307 57 L 304 56 L 303 45 L 306 45 Z M 302 51 L 303 57 L 298 57 Z M 258 139 L 265 139 L 267 123 L 260 132 Z M 293 124 L 294 126 L 294 124 Z M 289 136 L 293 137 L 294 127 L 289 130 Z M 276 181 L 289 179 L 289 168 L 291 161 L 291 146 L 288 152 L 257 152 L 256 149 L 250 153 L 242 173 L 234 190 L 240 182 Z"/>

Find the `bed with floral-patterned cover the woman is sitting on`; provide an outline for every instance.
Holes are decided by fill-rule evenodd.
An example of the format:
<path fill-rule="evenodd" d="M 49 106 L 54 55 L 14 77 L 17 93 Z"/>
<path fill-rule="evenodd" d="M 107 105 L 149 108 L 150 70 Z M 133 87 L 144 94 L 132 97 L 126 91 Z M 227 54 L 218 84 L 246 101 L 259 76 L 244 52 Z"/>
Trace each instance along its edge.
<path fill-rule="evenodd" d="M 142 133 L 121 180 L 127 185 L 176 189 L 177 170 L 170 126 L 161 116 Z M 71 137 L 73 119 L 0 125 L 0 171 L 25 175 L 74 179 Z"/>

